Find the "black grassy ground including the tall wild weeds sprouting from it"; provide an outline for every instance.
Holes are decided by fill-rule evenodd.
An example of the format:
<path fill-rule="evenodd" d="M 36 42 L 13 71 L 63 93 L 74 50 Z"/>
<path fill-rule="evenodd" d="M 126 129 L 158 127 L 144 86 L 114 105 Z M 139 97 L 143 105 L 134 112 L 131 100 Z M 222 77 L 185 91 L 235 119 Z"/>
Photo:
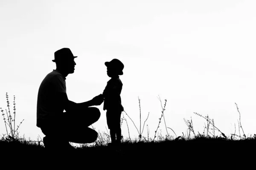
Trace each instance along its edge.
<path fill-rule="evenodd" d="M 245 136 L 237 105 L 236 108 L 239 112 L 239 135 L 235 132 L 235 134 L 230 134 L 231 137 L 227 137 L 215 126 L 213 119 L 210 119 L 208 115 L 202 116 L 195 113 L 206 120 L 207 124 L 204 127 L 203 133 L 200 134 L 198 132 L 198 134 L 195 134 L 192 119 L 184 119 L 188 127 L 185 135 L 183 134 L 183 136 L 178 136 L 175 139 L 173 137 L 170 139 L 170 136 L 166 139 L 164 139 L 163 136 L 158 136 L 160 137 L 158 138 L 157 130 L 160 127 L 161 121 L 164 122 L 166 131 L 167 128 L 169 128 L 166 126 L 164 118 L 166 100 L 164 105 L 162 105 L 160 100 L 162 114 L 158 120 L 159 124 L 155 130 L 154 139 L 146 141 L 145 139 L 148 139 L 148 137 L 145 138 L 142 136 L 144 125 L 148 118 L 144 121 L 143 128 L 138 129 L 128 114 L 124 112 L 126 118 L 131 119 L 136 127 L 141 137 L 141 142 L 140 139 L 133 139 L 123 141 L 117 147 L 108 146 L 107 143 L 110 142 L 110 136 L 106 133 L 99 133 L 99 137 L 93 146 L 84 145 L 75 150 L 67 151 L 47 150 L 43 142 L 26 141 L 24 137 L 18 137 L 18 127 L 22 122 L 20 122 L 19 125 L 16 124 L 17 128 L 15 129 L 15 97 L 13 116 L 9 109 L 10 105 L 7 93 L 6 99 L 8 111 L 6 110 L 4 112 L 2 108 L 0 108 L 7 133 L 5 137 L 0 139 L 1 169 L 5 165 L 12 169 L 14 167 L 21 168 L 28 165 L 33 169 L 38 169 L 39 167 L 51 168 L 52 165 L 56 165 L 58 169 L 67 168 L 67 165 L 71 165 L 73 169 L 77 169 L 74 168 L 76 166 L 78 166 L 79 169 L 87 167 L 93 167 L 93 169 L 127 169 L 128 167 L 135 169 L 152 169 L 153 167 L 157 167 L 157 169 L 166 167 L 180 169 L 191 167 L 197 169 L 206 169 L 209 167 L 214 169 L 231 169 L 242 165 L 243 169 L 245 169 L 246 165 L 253 165 L 256 157 L 254 156 L 256 153 L 256 135 L 253 137 Z M 126 118 L 123 116 L 121 125 L 125 122 L 129 132 Z M 142 125 L 142 122 L 143 121 L 140 119 L 140 125 Z M 217 135 L 217 133 L 219 135 Z M 157 141 L 157 139 L 159 139 L 159 141 Z"/>

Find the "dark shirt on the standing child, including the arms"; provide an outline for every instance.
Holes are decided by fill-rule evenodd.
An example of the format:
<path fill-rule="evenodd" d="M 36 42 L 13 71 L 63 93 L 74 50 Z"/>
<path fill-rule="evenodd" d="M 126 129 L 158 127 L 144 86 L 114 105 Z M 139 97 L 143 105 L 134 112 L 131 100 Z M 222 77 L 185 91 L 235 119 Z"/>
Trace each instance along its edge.
<path fill-rule="evenodd" d="M 121 91 L 122 91 L 122 82 L 118 77 L 111 78 L 105 90 L 103 91 L 104 96 L 104 105 L 103 110 L 117 110 L 124 111 L 124 108 L 121 104 Z"/>

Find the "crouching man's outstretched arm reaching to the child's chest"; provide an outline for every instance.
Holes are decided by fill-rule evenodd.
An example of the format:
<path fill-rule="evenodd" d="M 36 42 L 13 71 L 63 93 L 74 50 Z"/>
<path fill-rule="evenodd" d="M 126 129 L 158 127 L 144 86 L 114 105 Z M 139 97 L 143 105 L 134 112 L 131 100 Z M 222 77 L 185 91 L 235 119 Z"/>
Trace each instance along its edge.
<path fill-rule="evenodd" d="M 72 111 L 74 109 L 83 109 L 83 108 L 88 108 L 90 106 L 94 105 L 101 105 L 103 102 L 103 97 L 102 94 L 99 96 L 94 97 L 93 99 L 87 101 L 87 102 L 82 102 L 82 103 L 76 103 L 72 102 L 67 98 L 66 93 L 57 93 L 58 99 L 61 101 L 61 104 L 63 105 L 63 108 L 65 111 Z"/>

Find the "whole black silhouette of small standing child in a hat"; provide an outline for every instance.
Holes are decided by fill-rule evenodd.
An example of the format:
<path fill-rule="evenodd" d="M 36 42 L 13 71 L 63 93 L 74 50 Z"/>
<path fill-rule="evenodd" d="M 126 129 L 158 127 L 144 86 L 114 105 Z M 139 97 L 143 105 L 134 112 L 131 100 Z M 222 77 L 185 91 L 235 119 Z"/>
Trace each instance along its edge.
<path fill-rule="evenodd" d="M 103 91 L 104 106 L 103 110 L 107 110 L 107 124 L 110 130 L 111 143 L 121 143 L 121 127 L 120 118 L 124 108 L 121 104 L 122 82 L 119 75 L 122 75 L 123 63 L 118 59 L 112 59 L 110 62 L 105 62 L 107 66 L 107 74 L 111 79 L 108 81 L 105 90 Z"/>

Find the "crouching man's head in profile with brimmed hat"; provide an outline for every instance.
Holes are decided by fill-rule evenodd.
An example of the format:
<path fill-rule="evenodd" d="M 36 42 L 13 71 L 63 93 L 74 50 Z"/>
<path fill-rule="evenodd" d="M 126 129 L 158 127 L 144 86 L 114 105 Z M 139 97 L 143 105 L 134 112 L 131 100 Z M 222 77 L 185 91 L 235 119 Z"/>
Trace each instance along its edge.
<path fill-rule="evenodd" d="M 63 72 L 64 74 L 72 74 L 75 71 L 76 62 L 74 61 L 73 53 L 69 48 L 61 48 L 54 53 L 53 62 L 56 63 L 57 70 Z"/>

